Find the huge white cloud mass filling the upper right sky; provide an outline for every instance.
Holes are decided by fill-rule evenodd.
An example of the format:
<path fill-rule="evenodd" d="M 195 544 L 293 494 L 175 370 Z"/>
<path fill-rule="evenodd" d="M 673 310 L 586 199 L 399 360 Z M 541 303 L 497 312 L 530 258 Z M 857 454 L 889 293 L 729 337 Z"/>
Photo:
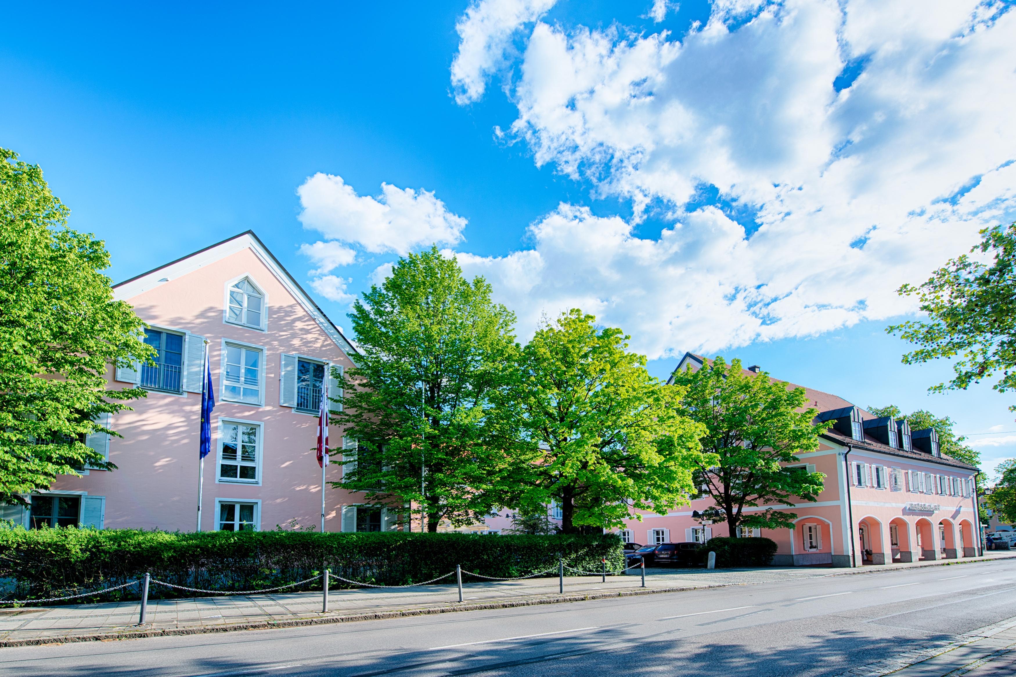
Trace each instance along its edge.
<path fill-rule="evenodd" d="M 1016 217 L 1016 11 L 1001 7 L 731 0 L 681 42 L 536 22 L 511 133 L 674 227 L 636 238 L 562 205 L 531 251 L 459 259 L 520 317 L 581 306 L 651 357 L 912 311 L 894 289 Z M 695 210 L 709 185 L 757 231 Z"/>

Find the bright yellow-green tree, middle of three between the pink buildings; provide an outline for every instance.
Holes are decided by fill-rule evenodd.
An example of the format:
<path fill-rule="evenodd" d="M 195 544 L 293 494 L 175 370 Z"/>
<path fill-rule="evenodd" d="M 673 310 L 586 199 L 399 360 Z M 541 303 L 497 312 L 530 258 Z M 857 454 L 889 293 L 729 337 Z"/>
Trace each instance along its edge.
<path fill-rule="evenodd" d="M 620 329 L 573 310 L 522 349 L 514 393 L 528 441 L 522 504 L 552 499 L 562 531 L 620 527 L 633 510 L 665 513 L 702 462 L 699 425 L 676 412 L 683 390 L 649 376 Z"/>

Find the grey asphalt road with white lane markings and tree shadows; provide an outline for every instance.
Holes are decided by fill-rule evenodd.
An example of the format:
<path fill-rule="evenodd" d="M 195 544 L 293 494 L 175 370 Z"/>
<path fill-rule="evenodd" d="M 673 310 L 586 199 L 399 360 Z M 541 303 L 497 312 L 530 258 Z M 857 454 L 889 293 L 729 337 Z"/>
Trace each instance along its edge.
<path fill-rule="evenodd" d="M 0 675 L 835 675 L 1016 616 L 1016 560 L 0 650 Z"/>

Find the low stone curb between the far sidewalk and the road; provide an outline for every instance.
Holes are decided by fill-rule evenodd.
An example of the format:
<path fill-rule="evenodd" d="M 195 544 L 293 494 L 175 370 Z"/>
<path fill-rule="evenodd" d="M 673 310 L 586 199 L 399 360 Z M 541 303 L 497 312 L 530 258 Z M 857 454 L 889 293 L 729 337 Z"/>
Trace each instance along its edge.
<path fill-rule="evenodd" d="M 866 566 L 864 568 L 846 569 L 826 576 L 858 576 L 863 573 L 889 573 L 892 571 L 910 571 L 917 568 L 930 566 L 953 566 L 958 564 L 977 564 L 981 562 L 999 561 L 1003 559 L 1016 559 L 1016 553 L 1007 557 L 978 557 L 976 559 L 962 560 L 936 560 L 934 562 L 914 564 L 913 566 L 901 566 L 897 568 L 879 568 L 876 566 Z M 544 604 L 567 604 L 571 602 L 589 602 L 593 600 L 607 600 L 622 597 L 641 597 L 643 595 L 661 595 L 664 593 L 685 593 L 695 590 L 712 590 L 715 588 L 734 588 L 738 586 L 757 586 L 773 583 L 772 581 L 751 582 L 751 583 L 713 583 L 699 586 L 669 586 L 666 588 L 637 588 L 635 590 L 619 590 L 604 593 L 588 593 L 581 595 L 543 595 L 525 599 L 504 600 L 501 602 L 482 603 L 448 603 L 442 606 L 427 607 L 423 609 L 399 609 L 391 611 L 376 611 L 368 613 L 318 615 L 317 617 L 293 618 L 289 620 L 264 620 L 244 623 L 230 623 L 223 625 L 199 625 L 195 627 L 178 628 L 141 628 L 131 627 L 116 632 L 94 632 L 90 634 L 66 635 L 60 637 L 38 637 L 31 639 L 0 639 L 0 648 L 5 647 L 40 647 L 45 645 L 62 645 L 79 641 L 110 641 L 115 639 L 141 639 L 145 637 L 168 637 L 183 636 L 189 634 L 208 634 L 212 632 L 233 632 L 237 630 L 267 630 L 283 627 L 306 627 L 311 625 L 331 625 L 335 623 L 353 623 L 365 620 L 386 620 L 390 618 L 408 618 L 412 616 L 427 616 L 442 613 L 455 613 L 461 611 L 488 611 L 492 609 L 514 609 L 527 606 L 539 606 Z M 29 611 L 22 608 L 21 611 Z"/>

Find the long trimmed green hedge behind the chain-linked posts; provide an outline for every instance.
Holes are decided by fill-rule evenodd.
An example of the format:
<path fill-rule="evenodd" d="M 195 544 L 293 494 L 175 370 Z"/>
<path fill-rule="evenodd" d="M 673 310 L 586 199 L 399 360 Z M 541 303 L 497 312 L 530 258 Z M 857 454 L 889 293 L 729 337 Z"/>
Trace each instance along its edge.
<path fill-rule="evenodd" d="M 145 571 L 167 583 L 218 591 L 273 588 L 320 574 L 324 568 L 354 581 L 399 586 L 454 571 L 456 564 L 485 576 L 525 576 L 556 567 L 559 556 L 565 564 L 585 570 L 599 570 L 602 557 L 609 569 L 624 566 L 616 535 L 169 533 L 0 527 L 0 579 L 9 583 L 2 599 L 72 595 L 117 586 Z M 465 578 L 469 580 L 475 579 Z M 442 581 L 450 582 L 454 577 Z M 334 580 L 332 585 L 341 587 Z M 304 589 L 319 587 L 317 581 Z M 102 599 L 134 599 L 138 594 L 135 586 L 107 593 Z M 152 586 L 149 596 L 194 594 Z M 94 599 L 99 598 L 78 601 Z"/>

